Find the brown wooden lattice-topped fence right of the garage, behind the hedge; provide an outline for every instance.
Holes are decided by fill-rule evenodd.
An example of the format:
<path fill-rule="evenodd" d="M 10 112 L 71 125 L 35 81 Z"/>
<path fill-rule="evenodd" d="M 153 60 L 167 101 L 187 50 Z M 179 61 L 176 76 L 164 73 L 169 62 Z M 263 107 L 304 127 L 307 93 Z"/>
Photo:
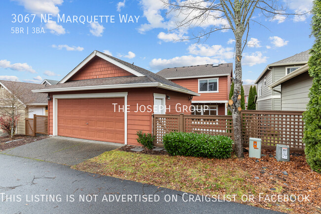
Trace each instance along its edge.
<path fill-rule="evenodd" d="M 243 145 L 248 146 L 249 137 L 257 137 L 262 139 L 264 149 L 276 149 L 276 144 L 284 144 L 291 151 L 304 151 L 302 113 L 242 110 Z M 227 135 L 234 139 L 232 116 L 154 115 L 155 145 L 162 146 L 163 135 L 172 131 Z"/>

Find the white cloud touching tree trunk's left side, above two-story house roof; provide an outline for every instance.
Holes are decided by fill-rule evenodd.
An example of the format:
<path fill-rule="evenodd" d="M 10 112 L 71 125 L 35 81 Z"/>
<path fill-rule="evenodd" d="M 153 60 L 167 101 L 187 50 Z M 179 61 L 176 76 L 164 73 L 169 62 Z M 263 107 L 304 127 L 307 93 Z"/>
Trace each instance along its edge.
<path fill-rule="evenodd" d="M 220 59 L 233 58 L 234 51 L 232 47 L 223 47 L 222 45 L 191 44 L 188 47 L 189 53 L 201 56 L 211 56 Z"/>

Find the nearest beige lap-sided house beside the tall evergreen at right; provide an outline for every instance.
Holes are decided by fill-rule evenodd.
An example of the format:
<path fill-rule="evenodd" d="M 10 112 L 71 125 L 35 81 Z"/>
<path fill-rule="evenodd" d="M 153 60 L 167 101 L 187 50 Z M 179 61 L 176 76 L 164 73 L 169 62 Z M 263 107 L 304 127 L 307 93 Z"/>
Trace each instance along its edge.
<path fill-rule="evenodd" d="M 309 91 L 313 78 L 310 77 L 308 64 L 282 77 L 269 87 L 281 86 L 281 110 L 305 111 L 309 102 Z"/>

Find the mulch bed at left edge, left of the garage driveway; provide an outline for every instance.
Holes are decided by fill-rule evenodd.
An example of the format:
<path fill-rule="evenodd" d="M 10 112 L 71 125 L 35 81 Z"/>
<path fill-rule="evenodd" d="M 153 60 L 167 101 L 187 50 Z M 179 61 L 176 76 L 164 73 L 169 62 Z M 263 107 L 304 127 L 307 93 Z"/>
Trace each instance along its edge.
<path fill-rule="evenodd" d="M 14 135 L 14 139 L 12 139 L 17 141 L 5 143 L 7 141 L 10 141 L 11 139 L 9 136 L 3 136 L 3 137 L 0 137 L 0 151 L 6 150 L 6 149 L 12 149 L 14 147 L 22 146 L 27 143 L 32 143 L 34 141 L 41 140 L 47 137 L 49 136 L 45 135 L 45 136 L 31 137 L 31 136 L 18 134 L 18 135 Z"/>

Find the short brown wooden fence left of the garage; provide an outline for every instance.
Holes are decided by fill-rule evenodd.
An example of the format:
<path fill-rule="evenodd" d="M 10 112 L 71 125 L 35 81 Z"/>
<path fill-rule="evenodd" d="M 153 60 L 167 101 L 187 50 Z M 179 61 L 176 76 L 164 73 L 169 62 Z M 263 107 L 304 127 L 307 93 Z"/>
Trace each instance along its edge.
<path fill-rule="evenodd" d="M 34 118 L 26 118 L 26 135 L 48 134 L 48 116 L 34 115 Z"/>

